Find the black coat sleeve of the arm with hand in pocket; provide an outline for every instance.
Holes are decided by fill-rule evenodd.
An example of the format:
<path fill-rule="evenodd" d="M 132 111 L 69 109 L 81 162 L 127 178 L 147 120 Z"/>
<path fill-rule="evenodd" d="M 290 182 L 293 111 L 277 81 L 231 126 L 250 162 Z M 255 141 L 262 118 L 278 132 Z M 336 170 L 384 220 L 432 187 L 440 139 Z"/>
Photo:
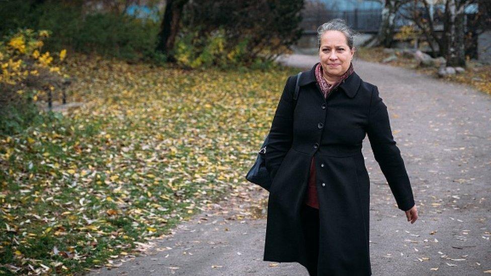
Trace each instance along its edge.
<path fill-rule="evenodd" d="M 270 173 L 271 180 L 274 179 L 293 141 L 293 90 L 295 88 L 292 86 L 294 85 L 292 80 L 294 80 L 292 76 L 288 77 L 283 88 L 266 146 L 265 166 Z"/>

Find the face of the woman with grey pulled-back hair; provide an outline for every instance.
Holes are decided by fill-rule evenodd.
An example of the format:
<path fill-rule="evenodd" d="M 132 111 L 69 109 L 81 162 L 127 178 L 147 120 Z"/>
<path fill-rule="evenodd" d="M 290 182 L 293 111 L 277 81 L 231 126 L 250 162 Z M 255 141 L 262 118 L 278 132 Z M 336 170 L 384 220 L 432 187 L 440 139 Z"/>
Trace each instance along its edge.
<path fill-rule="evenodd" d="M 326 31 L 320 37 L 319 58 L 324 74 L 341 76 L 350 67 L 355 51 L 340 31 Z"/>

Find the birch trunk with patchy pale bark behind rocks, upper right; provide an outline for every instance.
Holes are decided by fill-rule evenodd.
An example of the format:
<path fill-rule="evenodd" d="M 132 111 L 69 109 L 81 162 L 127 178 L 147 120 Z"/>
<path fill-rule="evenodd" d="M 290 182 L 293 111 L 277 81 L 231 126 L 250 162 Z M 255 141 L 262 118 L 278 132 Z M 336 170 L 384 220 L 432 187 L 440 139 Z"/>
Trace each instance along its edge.
<path fill-rule="evenodd" d="M 445 32 L 445 58 L 447 66 L 465 67 L 465 43 L 464 43 L 464 7 L 458 6 L 457 0 L 448 0 L 447 6 L 447 31 Z"/>

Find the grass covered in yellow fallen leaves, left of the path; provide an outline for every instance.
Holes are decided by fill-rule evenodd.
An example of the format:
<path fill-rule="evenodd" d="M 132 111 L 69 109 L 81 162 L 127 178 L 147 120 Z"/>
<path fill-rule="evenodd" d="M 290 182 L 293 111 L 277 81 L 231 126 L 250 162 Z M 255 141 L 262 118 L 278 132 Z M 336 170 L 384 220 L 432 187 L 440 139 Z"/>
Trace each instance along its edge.
<path fill-rule="evenodd" d="M 237 187 L 294 69 L 184 71 L 74 57 L 71 101 L 0 137 L 0 271 L 78 274 Z"/>

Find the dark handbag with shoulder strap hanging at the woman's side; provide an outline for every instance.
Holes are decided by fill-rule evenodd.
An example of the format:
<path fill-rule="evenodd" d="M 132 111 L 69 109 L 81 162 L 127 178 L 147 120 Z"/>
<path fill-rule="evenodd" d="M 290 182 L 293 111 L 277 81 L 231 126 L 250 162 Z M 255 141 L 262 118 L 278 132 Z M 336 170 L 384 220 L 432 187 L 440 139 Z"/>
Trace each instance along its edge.
<path fill-rule="evenodd" d="M 298 85 L 298 79 L 300 78 L 301 74 L 302 72 L 297 74 L 297 78 L 295 81 L 295 93 L 293 94 L 294 108 L 297 105 L 298 91 L 300 90 Z M 256 162 L 247 173 L 246 179 L 250 182 L 253 182 L 263 187 L 269 192 L 269 189 L 271 188 L 271 184 L 273 181 L 271 179 L 269 171 L 266 169 L 265 158 L 264 158 L 264 154 L 266 154 L 266 148 L 268 146 L 268 142 L 269 142 L 269 133 L 264 139 L 263 145 L 261 146 L 261 149 L 258 152 L 258 157 L 256 158 Z"/>

